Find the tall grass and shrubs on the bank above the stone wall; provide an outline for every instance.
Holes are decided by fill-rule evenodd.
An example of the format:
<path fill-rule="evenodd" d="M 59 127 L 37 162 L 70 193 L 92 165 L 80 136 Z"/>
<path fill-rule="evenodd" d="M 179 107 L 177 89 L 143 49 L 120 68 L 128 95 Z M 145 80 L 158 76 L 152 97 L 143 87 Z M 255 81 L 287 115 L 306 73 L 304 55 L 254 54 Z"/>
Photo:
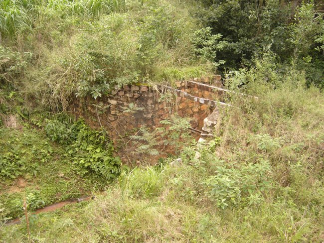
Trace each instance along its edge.
<path fill-rule="evenodd" d="M 55 112 L 73 96 L 97 98 L 114 85 L 172 82 L 209 73 L 194 55 L 197 28 L 188 8 L 174 1 L 2 1 L 2 45 L 30 53 L 26 98 Z"/>

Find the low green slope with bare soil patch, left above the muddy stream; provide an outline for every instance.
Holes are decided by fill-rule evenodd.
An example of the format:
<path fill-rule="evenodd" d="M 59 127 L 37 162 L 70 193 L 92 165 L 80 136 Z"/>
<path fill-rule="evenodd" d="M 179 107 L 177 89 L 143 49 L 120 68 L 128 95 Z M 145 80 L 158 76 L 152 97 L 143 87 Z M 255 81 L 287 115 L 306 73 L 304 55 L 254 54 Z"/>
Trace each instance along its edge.
<path fill-rule="evenodd" d="M 24 161 L 25 165 L 23 170 L 2 167 L 2 170 L 17 172 L 12 174 L 13 178 L 1 177 L 3 217 L 22 216 L 19 202 L 25 196 L 33 197 L 30 203 L 35 204 L 31 205 L 34 209 L 100 189 L 102 182 L 95 176 L 78 175 L 78 168 L 72 164 L 65 147 L 52 143 L 40 129 L 25 125 L 27 127 L 21 129 L 0 128 L 1 155 L 14 154 L 15 161 Z"/>

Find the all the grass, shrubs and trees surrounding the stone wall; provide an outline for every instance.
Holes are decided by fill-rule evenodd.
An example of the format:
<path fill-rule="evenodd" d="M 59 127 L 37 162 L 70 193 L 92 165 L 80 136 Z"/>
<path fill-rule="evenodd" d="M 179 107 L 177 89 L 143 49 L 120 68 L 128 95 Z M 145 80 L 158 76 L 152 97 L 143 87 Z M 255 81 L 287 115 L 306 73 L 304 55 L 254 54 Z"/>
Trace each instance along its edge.
<path fill-rule="evenodd" d="M 23 216 L 26 198 L 31 232 L 25 218 L 0 223 L 0 242 L 323 242 L 323 10 L 298 0 L 0 1 L 0 222 Z M 179 132 L 187 120 L 163 121 L 177 156 L 155 166 L 120 166 L 103 129 L 65 114 L 74 97 L 115 85 L 216 72 L 258 98 L 230 93 L 204 146 Z M 157 133 L 141 131 L 136 152 L 158 154 Z"/>

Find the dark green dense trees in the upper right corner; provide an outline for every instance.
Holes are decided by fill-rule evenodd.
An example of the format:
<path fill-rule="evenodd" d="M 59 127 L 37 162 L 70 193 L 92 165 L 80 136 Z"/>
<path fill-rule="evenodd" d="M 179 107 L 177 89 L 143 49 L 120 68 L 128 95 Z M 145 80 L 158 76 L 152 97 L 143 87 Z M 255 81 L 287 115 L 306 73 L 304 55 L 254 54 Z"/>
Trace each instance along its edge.
<path fill-rule="evenodd" d="M 221 70 L 253 66 L 265 51 L 278 63 L 305 70 L 308 83 L 320 87 L 324 77 L 322 1 L 203 0 L 197 16 L 227 44 L 214 56 Z"/>

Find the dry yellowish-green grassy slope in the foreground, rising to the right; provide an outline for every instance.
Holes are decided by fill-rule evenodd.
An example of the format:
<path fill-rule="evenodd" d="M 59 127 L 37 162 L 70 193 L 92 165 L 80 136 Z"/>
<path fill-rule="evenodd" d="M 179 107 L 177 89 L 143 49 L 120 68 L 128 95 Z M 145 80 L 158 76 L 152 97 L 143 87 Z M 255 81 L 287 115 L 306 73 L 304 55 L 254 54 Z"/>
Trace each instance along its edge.
<path fill-rule="evenodd" d="M 189 148 L 182 163 L 125 172 L 93 202 L 37 216 L 34 239 L 322 242 L 324 96 L 296 73 L 274 90 L 263 81 L 268 74 L 242 74 L 257 80 L 246 89 L 259 99 L 232 97 L 238 109 L 223 113 L 200 159 Z M 1 230 L 8 242 L 20 233 L 24 225 Z"/>

